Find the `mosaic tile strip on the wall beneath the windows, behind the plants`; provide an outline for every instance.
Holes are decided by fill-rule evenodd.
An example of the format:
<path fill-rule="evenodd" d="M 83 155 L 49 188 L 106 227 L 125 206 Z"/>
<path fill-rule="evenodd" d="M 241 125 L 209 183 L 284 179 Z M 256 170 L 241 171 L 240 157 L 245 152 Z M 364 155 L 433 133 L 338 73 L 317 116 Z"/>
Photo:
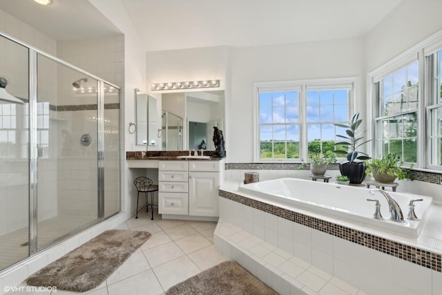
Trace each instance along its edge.
<path fill-rule="evenodd" d="M 301 163 L 226 163 L 226 170 L 297 170 Z M 302 167 L 302 170 L 309 170 L 310 167 Z M 339 170 L 339 164 L 330 164 L 327 170 Z M 412 170 L 410 174 L 413 175 L 414 180 L 422 182 L 430 182 L 434 184 L 442 184 L 441 173 Z"/>

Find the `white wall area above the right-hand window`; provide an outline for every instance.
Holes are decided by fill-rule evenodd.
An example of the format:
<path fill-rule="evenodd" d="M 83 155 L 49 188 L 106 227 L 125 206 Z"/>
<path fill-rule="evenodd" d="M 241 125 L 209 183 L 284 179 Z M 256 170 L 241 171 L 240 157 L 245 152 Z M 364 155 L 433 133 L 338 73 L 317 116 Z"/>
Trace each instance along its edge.
<path fill-rule="evenodd" d="M 442 30 L 442 1 L 403 0 L 366 36 L 367 73 Z"/>

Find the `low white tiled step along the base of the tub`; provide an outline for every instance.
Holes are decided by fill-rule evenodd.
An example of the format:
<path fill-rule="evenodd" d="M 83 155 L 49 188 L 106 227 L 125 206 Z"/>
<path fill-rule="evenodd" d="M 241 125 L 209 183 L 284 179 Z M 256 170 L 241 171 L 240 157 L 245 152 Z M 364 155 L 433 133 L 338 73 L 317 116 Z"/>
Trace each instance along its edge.
<path fill-rule="evenodd" d="M 224 220 L 218 222 L 214 242 L 220 253 L 236 260 L 278 294 L 365 295 L 343 280 Z"/>

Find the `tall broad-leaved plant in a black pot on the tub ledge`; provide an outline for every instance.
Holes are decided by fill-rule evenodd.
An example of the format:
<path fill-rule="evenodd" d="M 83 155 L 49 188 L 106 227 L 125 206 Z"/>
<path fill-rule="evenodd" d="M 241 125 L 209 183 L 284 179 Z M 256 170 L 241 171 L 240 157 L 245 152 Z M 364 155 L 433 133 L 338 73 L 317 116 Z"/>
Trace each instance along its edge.
<path fill-rule="evenodd" d="M 363 133 L 366 131 L 358 131 L 358 127 L 361 125 L 362 119 L 359 119 L 359 113 L 352 115 L 348 125 L 334 124 L 335 126 L 345 128 L 347 135 L 336 135 L 343 138 L 345 142 L 335 142 L 335 146 L 346 146 L 347 151 L 336 150 L 335 153 L 347 155 L 347 161 L 339 163 L 340 174 L 349 178 L 350 183 L 360 184 L 365 178 L 365 166 L 363 160 L 368 160 L 369 156 L 358 149 L 366 144 L 370 140 L 365 140 Z M 361 154 L 361 155 L 360 155 Z M 361 161 L 357 161 L 361 160 Z"/>

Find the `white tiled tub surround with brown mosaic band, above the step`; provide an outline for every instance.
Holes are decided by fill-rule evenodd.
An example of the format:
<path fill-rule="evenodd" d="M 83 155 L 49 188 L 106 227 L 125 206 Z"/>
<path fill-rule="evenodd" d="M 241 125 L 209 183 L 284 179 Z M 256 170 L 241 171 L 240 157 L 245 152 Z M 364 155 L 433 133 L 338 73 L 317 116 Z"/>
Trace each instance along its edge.
<path fill-rule="evenodd" d="M 238 182 L 222 185 L 221 220 L 369 294 L 376 294 L 372 278 L 389 290 L 405 288 L 417 294 L 442 294 L 441 205 L 431 208 L 418 238 L 405 238 L 345 220 L 276 206 L 253 196 L 246 198 L 237 188 Z M 414 277 L 421 278 L 422 283 Z"/>

